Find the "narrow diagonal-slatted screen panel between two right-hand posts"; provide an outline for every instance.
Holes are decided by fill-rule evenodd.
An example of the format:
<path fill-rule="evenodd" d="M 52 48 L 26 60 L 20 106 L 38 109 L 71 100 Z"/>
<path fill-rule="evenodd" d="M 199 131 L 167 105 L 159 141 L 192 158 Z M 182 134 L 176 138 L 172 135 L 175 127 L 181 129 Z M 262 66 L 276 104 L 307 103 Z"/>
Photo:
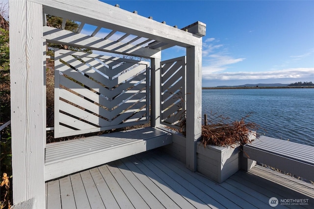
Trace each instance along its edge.
<path fill-rule="evenodd" d="M 179 129 L 185 117 L 185 56 L 161 63 L 161 124 Z"/>

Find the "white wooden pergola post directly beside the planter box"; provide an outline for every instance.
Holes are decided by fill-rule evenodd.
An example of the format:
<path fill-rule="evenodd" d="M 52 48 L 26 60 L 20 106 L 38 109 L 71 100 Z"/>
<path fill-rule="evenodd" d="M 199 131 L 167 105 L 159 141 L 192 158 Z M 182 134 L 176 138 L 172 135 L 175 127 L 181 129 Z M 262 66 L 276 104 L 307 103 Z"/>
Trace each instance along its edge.
<path fill-rule="evenodd" d="M 202 48 L 186 48 L 186 167 L 192 171 L 197 170 L 196 141 L 202 134 L 201 68 Z"/>

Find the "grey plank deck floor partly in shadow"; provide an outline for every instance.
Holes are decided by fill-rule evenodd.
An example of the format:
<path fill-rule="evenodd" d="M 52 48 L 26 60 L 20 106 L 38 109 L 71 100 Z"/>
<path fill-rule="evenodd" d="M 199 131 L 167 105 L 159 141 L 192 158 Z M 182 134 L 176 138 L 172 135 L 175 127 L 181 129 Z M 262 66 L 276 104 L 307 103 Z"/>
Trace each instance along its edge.
<path fill-rule="evenodd" d="M 153 150 L 46 183 L 47 209 L 115 208 L 313 208 L 314 184 L 255 166 L 224 183 L 191 172 L 173 157 Z M 308 205 L 281 205 L 308 199 Z"/>

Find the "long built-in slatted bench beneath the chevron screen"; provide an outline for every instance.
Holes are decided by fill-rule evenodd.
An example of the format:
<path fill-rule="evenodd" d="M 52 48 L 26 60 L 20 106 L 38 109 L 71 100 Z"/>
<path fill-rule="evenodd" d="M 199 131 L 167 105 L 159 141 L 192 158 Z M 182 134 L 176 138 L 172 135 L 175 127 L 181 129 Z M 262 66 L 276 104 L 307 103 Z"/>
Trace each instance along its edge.
<path fill-rule="evenodd" d="M 141 128 L 46 145 L 45 181 L 172 143 L 158 128 Z"/>

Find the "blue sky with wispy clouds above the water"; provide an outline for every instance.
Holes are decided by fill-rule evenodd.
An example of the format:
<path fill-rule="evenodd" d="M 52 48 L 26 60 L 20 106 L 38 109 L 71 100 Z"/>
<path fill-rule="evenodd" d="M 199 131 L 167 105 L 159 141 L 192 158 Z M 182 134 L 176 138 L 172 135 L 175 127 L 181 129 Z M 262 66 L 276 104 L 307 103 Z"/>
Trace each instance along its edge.
<path fill-rule="evenodd" d="M 102 0 L 179 28 L 201 21 L 203 86 L 314 82 L 314 1 Z M 162 59 L 185 55 L 178 47 Z"/>

